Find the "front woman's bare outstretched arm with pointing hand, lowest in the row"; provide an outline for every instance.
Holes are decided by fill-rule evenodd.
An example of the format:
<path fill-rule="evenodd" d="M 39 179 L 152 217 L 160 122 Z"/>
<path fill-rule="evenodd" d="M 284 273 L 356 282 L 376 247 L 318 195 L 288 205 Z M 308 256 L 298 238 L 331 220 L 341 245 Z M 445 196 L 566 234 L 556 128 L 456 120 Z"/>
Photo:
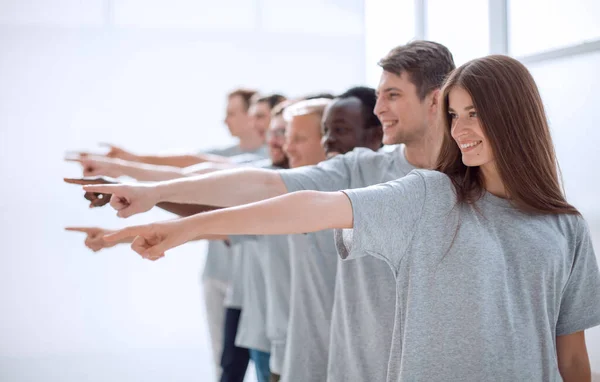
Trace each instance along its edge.
<path fill-rule="evenodd" d="M 344 193 L 301 191 L 188 218 L 133 226 L 105 239 L 136 237 L 132 248 L 156 260 L 165 251 L 204 235 L 293 234 L 352 225 L 352 206 Z"/>

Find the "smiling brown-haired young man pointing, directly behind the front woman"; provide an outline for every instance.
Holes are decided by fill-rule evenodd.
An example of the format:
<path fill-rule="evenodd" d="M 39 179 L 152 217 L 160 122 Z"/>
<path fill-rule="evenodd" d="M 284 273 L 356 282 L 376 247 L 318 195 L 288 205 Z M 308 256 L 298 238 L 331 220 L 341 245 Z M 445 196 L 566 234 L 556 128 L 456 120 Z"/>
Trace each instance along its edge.
<path fill-rule="evenodd" d="M 392 49 L 380 66 L 383 72 L 374 112 L 383 124 L 383 143 L 403 144 L 392 152 L 355 149 L 318 166 L 279 172 L 231 170 L 219 176 L 163 182 L 150 190 L 141 187 L 99 190 L 112 189 L 126 200 L 117 208 L 132 212 L 143 212 L 163 200 L 235 206 L 298 190 L 361 188 L 403 177 L 414 168 L 432 166 L 441 142 L 436 128 L 438 93 L 454 69 L 451 53 L 434 42 L 414 41 Z M 240 183 L 245 185 L 243 189 L 235 187 Z M 329 248 L 320 251 L 337 257 Z M 299 375 L 284 375 L 284 380 L 385 381 L 387 378 L 396 303 L 390 267 L 369 256 L 340 262 L 337 269 L 327 375 L 309 374 L 302 379 L 307 372 L 300 371 Z M 319 294 L 316 296 L 319 298 Z M 319 348 L 308 347 L 305 351 L 322 354 Z M 313 362 L 319 365 L 322 361 Z"/>

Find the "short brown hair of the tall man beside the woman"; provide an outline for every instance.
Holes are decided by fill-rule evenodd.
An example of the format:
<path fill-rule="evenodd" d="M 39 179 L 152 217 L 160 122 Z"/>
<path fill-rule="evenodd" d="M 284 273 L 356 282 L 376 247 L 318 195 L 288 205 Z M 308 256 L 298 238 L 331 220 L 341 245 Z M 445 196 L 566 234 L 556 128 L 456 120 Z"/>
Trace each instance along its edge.
<path fill-rule="evenodd" d="M 448 48 L 437 42 L 423 40 L 395 47 L 378 65 L 397 76 L 407 73 L 417 87 L 417 95 L 421 100 L 432 90 L 441 88 L 448 74 L 456 67 Z"/>

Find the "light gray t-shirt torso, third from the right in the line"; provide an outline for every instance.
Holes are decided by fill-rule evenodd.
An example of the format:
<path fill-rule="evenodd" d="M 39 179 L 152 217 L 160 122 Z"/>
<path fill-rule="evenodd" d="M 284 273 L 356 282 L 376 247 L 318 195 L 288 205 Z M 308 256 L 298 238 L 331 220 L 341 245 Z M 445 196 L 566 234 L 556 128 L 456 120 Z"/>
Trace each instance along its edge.
<path fill-rule="evenodd" d="M 325 381 L 336 274 L 331 230 L 289 236 L 290 313 L 283 382 Z"/>

